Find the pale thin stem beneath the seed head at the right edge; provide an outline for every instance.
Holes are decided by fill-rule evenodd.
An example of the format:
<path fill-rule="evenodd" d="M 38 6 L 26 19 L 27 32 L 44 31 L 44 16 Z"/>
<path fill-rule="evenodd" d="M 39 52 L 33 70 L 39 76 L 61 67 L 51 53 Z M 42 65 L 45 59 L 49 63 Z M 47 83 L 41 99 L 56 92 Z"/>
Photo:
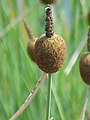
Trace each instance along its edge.
<path fill-rule="evenodd" d="M 84 105 L 83 105 L 83 108 L 82 108 L 82 113 L 81 113 L 80 120 L 84 120 L 84 117 L 85 117 L 85 112 L 86 112 L 86 107 L 87 107 L 87 103 L 88 103 L 89 92 L 90 92 L 90 86 L 89 86 L 89 88 L 87 90 L 87 93 L 86 93 L 86 97 L 85 97 L 85 100 L 84 100 Z"/>

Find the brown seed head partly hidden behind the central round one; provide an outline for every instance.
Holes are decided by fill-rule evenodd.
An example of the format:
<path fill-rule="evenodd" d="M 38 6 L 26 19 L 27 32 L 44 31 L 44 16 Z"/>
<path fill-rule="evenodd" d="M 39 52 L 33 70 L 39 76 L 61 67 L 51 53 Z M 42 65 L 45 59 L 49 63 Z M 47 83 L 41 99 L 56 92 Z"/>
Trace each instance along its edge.
<path fill-rule="evenodd" d="M 35 52 L 34 52 L 34 49 L 35 49 L 35 41 L 28 42 L 27 53 L 28 53 L 29 57 L 35 62 Z"/>

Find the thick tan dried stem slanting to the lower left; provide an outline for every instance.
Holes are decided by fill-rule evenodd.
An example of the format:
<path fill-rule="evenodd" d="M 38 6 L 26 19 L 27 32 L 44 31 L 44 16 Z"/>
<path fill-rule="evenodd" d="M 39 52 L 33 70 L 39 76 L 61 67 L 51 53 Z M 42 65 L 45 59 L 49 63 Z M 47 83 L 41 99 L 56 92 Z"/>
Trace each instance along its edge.
<path fill-rule="evenodd" d="M 27 97 L 26 101 L 23 103 L 23 105 L 19 108 L 19 110 L 9 119 L 9 120 L 16 120 L 17 117 L 20 116 L 20 114 L 28 107 L 28 105 L 31 103 L 32 99 L 35 97 L 37 94 L 38 90 L 40 89 L 42 83 L 44 82 L 46 78 L 46 73 L 44 73 L 40 80 L 38 81 L 37 85 L 35 88 L 32 90 L 32 92 L 29 94 Z"/>

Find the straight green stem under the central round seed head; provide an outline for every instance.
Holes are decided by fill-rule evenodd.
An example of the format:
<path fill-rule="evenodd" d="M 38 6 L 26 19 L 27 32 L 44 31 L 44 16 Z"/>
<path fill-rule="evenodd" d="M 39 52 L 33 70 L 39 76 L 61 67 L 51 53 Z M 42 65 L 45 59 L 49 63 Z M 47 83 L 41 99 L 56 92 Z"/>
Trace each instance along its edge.
<path fill-rule="evenodd" d="M 47 116 L 46 120 L 50 120 L 50 108 L 51 108 L 51 88 L 52 88 L 52 77 L 49 74 L 49 81 L 48 81 L 48 103 L 47 103 Z"/>

